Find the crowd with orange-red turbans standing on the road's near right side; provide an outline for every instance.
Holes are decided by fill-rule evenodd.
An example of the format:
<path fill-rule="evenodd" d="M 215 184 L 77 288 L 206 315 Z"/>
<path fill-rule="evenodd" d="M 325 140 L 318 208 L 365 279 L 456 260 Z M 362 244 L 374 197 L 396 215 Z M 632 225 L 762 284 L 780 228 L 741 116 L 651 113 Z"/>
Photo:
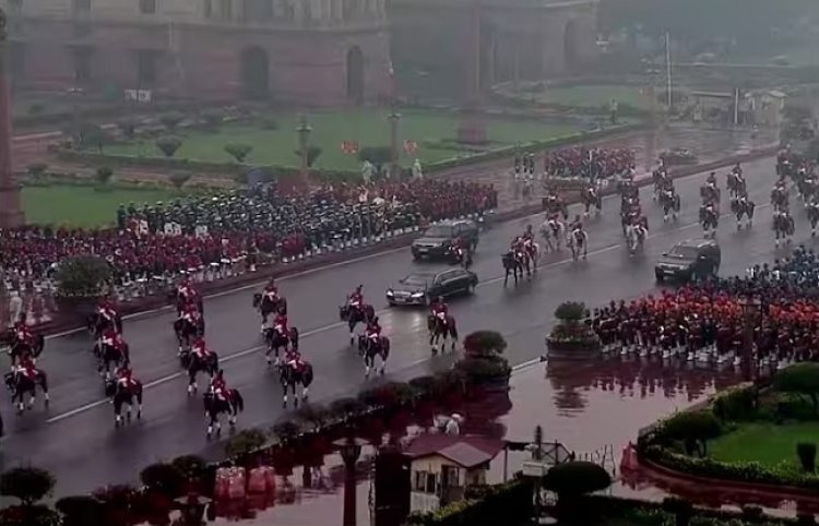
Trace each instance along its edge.
<path fill-rule="evenodd" d="M 797 247 L 745 276 L 697 282 L 631 302 L 595 309 L 587 323 L 606 351 L 692 361 L 741 363 L 748 327 L 743 301 L 755 298 L 756 364 L 782 367 L 819 359 L 819 255 Z"/>

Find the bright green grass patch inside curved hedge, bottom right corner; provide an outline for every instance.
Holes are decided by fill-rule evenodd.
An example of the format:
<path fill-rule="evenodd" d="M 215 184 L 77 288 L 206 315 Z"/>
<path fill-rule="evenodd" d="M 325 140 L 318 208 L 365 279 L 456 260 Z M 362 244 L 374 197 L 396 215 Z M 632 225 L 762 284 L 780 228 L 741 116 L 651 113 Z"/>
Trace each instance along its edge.
<path fill-rule="evenodd" d="M 798 464 L 796 444 L 799 442 L 819 442 L 819 422 L 743 423 L 710 442 L 709 455 L 722 462 L 758 462 L 769 467 L 783 461 Z"/>

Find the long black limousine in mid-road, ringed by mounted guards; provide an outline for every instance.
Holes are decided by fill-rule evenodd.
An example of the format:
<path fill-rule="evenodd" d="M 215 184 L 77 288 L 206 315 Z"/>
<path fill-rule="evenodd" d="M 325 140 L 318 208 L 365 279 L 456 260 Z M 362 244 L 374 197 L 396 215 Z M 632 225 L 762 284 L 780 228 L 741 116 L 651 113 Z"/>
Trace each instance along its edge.
<path fill-rule="evenodd" d="M 414 272 L 387 289 L 387 302 L 397 304 L 429 304 L 439 296 L 472 294 L 477 286 L 477 275 L 464 268 L 440 272 Z"/>

